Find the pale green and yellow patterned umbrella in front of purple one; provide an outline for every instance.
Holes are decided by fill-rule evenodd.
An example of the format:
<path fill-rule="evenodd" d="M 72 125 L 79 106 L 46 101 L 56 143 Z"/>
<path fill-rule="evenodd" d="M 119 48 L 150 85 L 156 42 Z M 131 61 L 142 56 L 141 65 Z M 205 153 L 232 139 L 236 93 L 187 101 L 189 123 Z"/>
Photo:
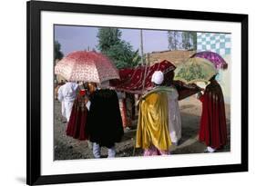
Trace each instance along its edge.
<path fill-rule="evenodd" d="M 210 78 L 216 73 L 217 70 L 214 64 L 210 63 L 209 60 L 194 57 L 189 58 L 176 68 L 174 80 L 179 80 L 184 83 L 208 83 Z"/>

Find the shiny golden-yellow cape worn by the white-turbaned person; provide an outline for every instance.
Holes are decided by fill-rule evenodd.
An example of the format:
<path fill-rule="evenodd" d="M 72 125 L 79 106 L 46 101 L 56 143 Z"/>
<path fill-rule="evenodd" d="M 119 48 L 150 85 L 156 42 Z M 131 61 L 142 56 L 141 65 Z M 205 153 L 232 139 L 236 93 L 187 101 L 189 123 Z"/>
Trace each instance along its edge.
<path fill-rule="evenodd" d="M 148 149 L 153 144 L 161 151 L 169 150 L 168 115 L 167 93 L 148 93 L 142 99 L 139 103 L 137 148 Z"/>

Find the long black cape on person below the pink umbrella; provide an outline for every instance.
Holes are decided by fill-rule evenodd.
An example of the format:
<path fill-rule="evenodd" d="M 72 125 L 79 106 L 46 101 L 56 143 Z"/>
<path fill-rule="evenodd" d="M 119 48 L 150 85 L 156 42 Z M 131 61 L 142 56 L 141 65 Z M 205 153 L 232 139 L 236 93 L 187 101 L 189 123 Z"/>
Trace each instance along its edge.
<path fill-rule="evenodd" d="M 111 148 L 124 135 L 118 95 L 113 90 L 97 90 L 91 95 L 90 102 L 87 115 L 89 140 Z"/>

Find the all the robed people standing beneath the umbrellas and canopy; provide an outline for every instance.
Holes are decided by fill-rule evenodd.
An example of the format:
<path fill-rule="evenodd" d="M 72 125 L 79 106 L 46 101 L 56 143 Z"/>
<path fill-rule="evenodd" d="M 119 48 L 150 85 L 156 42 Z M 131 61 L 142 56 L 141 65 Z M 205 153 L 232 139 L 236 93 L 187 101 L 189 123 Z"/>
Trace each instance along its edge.
<path fill-rule="evenodd" d="M 151 82 L 153 89 L 138 100 L 135 147 L 142 148 L 144 156 L 168 155 L 170 146 L 178 146 L 181 139 L 179 93 L 172 77 L 160 71 L 153 73 Z M 202 103 L 199 141 L 207 145 L 205 152 L 215 152 L 227 142 L 223 94 L 215 75 L 202 92 L 198 94 Z M 115 157 L 115 144 L 121 142 L 124 129 L 131 125 L 126 93 L 112 89 L 109 81 L 67 82 L 60 84 L 56 93 L 67 120 L 67 135 L 90 142 L 95 158 L 101 157 L 101 147 L 108 148 L 109 158 Z"/>

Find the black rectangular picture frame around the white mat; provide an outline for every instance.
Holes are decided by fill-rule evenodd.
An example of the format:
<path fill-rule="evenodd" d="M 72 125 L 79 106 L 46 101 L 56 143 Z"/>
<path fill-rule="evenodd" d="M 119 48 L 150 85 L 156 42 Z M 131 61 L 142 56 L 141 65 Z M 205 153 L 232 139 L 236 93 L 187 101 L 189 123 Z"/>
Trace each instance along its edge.
<path fill-rule="evenodd" d="M 26 77 L 26 183 L 40 185 L 83 181 L 112 181 L 152 177 L 210 174 L 248 171 L 248 15 L 196 11 L 181 11 L 112 5 L 85 5 L 30 1 L 27 11 L 27 77 Z M 200 167 L 179 167 L 140 171 L 110 171 L 65 175 L 41 175 L 40 119 L 41 119 L 41 73 L 40 73 L 40 13 L 56 11 L 67 13 L 92 13 L 100 15 L 137 15 L 148 17 L 179 18 L 189 20 L 225 21 L 241 23 L 241 163 Z"/>

